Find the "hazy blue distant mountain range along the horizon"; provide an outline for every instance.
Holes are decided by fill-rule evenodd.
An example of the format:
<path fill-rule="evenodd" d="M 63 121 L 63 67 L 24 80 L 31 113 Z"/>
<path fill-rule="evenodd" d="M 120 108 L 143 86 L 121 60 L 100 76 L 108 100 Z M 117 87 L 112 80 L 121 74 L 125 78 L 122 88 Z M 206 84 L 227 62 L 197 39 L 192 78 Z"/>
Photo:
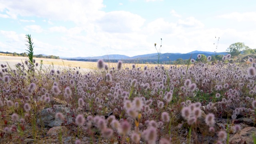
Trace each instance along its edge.
<path fill-rule="evenodd" d="M 196 59 L 198 54 L 204 54 L 205 56 L 212 56 L 215 55 L 215 52 L 204 52 L 204 51 L 192 51 L 188 52 L 186 54 L 181 54 L 181 53 L 163 53 L 160 55 L 159 60 L 160 61 L 173 61 L 177 60 L 178 58 L 182 58 L 183 60 L 189 59 L 190 56 L 192 58 Z M 217 55 L 226 55 L 228 54 L 227 52 L 217 52 Z M 62 58 L 62 59 L 67 59 L 67 60 L 98 60 L 98 59 L 103 59 L 103 60 L 158 60 L 158 54 L 143 54 L 143 55 L 138 55 L 138 56 L 125 56 L 125 55 L 120 55 L 120 54 L 110 54 L 110 55 L 104 55 L 104 56 L 92 56 L 92 57 L 76 57 L 76 58 Z"/>

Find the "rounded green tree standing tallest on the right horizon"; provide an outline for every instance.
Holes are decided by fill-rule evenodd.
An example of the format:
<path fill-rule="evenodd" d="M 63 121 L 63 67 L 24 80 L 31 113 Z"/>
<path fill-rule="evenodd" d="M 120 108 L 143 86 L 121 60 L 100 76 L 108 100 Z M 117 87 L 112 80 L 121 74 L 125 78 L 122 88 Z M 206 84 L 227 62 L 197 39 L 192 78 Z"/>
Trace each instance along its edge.
<path fill-rule="evenodd" d="M 238 56 L 243 50 L 248 49 L 249 47 L 246 46 L 243 42 L 236 42 L 234 44 L 231 44 L 226 51 L 233 57 Z"/>

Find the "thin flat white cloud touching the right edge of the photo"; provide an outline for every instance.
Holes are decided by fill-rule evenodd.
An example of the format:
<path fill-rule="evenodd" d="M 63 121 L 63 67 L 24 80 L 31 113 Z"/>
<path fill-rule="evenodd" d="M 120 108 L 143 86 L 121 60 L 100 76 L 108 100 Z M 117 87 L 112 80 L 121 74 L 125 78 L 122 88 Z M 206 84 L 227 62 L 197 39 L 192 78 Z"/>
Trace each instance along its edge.
<path fill-rule="evenodd" d="M 233 19 L 238 22 L 256 22 L 256 12 L 245 12 L 245 13 L 232 12 L 230 14 L 223 14 L 218 17 Z"/>

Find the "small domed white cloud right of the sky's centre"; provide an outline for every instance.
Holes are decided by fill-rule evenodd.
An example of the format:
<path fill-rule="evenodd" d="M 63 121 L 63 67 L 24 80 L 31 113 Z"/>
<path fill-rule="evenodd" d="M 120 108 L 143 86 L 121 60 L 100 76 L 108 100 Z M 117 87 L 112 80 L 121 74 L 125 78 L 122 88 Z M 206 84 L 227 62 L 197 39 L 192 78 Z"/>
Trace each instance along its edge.
<path fill-rule="evenodd" d="M 186 18 L 186 20 L 178 20 L 178 25 L 185 28 L 202 28 L 204 24 L 194 17 Z"/>

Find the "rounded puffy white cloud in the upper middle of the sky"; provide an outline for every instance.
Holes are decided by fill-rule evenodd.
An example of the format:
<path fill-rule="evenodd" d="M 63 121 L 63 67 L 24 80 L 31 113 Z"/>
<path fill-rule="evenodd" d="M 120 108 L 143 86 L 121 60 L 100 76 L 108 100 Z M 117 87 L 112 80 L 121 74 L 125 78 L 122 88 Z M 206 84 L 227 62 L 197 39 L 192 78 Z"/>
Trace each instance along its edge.
<path fill-rule="evenodd" d="M 98 20 L 98 25 L 104 32 L 127 33 L 140 30 L 144 21 L 145 20 L 137 14 L 126 11 L 112 11 L 106 13 Z"/>

